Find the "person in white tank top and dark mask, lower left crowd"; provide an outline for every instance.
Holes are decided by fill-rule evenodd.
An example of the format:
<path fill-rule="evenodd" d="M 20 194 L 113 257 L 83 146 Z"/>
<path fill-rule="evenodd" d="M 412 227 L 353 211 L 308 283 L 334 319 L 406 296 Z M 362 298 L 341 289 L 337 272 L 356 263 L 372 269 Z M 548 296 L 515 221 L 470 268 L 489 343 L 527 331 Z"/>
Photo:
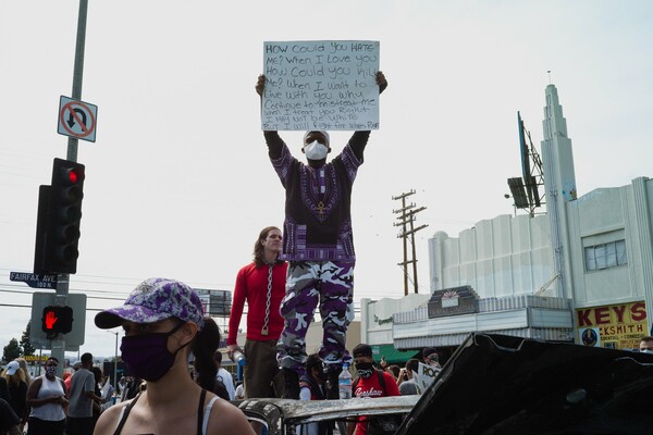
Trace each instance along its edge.
<path fill-rule="evenodd" d="M 32 407 L 32 411 L 27 435 L 63 435 L 67 400 L 65 384 L 57 376 L 58 366 L 57 358 L 48 358 L 46 374 L 29 384 L 27 405 Z"/>

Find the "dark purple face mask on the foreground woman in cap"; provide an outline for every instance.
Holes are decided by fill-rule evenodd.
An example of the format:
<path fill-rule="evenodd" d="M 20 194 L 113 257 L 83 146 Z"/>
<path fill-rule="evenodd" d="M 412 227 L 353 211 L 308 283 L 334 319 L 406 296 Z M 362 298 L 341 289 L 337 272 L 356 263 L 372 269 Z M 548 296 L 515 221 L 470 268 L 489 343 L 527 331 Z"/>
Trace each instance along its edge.
<path fill-rule="evenodd" d="M 168 350 L 168 337 L 177 332 L 184 324 L 175 326 L 169 333 L 150 333 L 125 336 L 120 350 L 122 359 L 135 377 L 145 381 L 159 381 L 174 365 L 174 357 L 189 341 L 180 347 L 174 353 Z"/>

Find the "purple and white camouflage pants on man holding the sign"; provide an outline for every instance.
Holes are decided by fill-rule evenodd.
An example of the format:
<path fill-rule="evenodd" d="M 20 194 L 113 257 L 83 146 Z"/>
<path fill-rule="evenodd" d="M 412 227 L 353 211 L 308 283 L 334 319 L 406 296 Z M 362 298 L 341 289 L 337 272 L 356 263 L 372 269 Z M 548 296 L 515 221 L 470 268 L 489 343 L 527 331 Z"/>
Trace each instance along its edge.
<path fill-rule="evenodd" d="M 337 368 L 350 363 L 345 344 L 347 326 L 354 320 L 354 262 L 291 261 L 280 308 L 285 319 L 276 345 L 281 368 L 304 374 L 306 332 L 318 303 L 323 330 L 320 359 Z"/>

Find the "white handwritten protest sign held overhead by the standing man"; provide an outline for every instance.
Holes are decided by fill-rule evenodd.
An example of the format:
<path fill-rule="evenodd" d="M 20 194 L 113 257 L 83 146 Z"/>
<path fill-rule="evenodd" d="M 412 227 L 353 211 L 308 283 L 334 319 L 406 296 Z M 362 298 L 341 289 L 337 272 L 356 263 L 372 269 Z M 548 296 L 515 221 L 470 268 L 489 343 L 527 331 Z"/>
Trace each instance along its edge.
<path fill-rule="evenodd" d="M 379 41 L 263 42 L 263 130 L 379 128 Z"/>

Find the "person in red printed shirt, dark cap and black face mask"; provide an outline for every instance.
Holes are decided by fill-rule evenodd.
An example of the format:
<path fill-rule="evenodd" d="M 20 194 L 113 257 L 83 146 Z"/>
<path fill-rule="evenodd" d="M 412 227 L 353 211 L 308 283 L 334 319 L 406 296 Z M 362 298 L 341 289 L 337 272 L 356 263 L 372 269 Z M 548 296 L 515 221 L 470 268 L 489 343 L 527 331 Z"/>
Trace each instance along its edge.
<path fill-rule="evenodd" d="M 392 374 L 374 368 L 372 348 L 360 344 L 352 351 L 354 365 L 358 377 L 352 384 L 352 397 L 374 399 L 386 396 L 399 396 L 399 387 Z M 348 435 L 366 435 L 368 433 L 368 421 L 359 417 L 357 423 L 347 424 Z"/>

